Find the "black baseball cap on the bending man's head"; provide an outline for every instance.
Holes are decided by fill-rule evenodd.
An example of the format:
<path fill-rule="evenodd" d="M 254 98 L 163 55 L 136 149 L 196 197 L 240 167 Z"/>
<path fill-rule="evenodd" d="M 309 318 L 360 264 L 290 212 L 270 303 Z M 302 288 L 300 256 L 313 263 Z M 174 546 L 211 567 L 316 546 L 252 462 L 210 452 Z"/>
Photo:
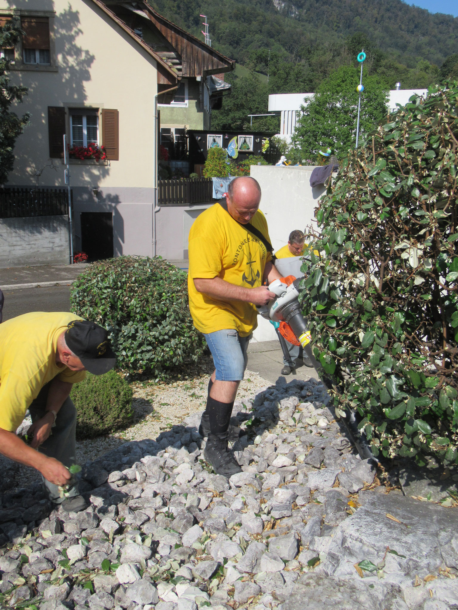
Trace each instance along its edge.
<path fill-rule="evenodd" d="M 89 320 L 73 320 L 65 331 L 65 343 L 93 375 L 103 375 L 116 364 L 106 329 Z"/>

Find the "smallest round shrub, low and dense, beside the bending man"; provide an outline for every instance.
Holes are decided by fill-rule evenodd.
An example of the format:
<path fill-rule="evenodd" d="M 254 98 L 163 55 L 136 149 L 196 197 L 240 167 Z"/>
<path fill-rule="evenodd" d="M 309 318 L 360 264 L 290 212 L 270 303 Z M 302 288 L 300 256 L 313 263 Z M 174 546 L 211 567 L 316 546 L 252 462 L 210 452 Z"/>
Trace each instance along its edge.
<path fill-rule="evenodd" d="M 105 375 L 91 375 L 76 383 L 70 393 L 78 418 L 78 439 L 92 439 L 129 425 L 132 411 L 132 390 L 115 371 Z"/>

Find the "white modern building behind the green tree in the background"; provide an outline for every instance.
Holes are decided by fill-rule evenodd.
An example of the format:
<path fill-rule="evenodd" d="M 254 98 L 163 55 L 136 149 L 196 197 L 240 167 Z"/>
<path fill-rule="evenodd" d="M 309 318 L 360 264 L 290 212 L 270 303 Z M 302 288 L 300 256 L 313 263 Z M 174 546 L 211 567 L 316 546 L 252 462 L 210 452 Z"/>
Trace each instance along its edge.
<path fill-rule="evenodd" d="M 401 89 L 390 91 L 388 108 L 390 112 L 396 110 L 396 104 L 404 106 L 412 95 L 426 96 L 427 89 Z M 294 134 L 296 121 L 300 117 L 300 107 L 307 105 L 313 98 L 313 93 L 277 93 L 269 95 L 269 112 L 280 112 L 280 135 L 288 142 Z"/>

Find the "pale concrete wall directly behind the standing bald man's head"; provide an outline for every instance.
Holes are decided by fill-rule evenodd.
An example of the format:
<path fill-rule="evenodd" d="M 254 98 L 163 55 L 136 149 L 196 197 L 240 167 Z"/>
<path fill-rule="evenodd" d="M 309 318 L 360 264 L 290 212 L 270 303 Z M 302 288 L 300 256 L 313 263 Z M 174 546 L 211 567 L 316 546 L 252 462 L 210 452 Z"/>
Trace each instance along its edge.
<path fill-rule="evenodd" d="M 311 188 L 314 167 L 252 165 L 250 169 L 261 185 L 260 210 L 266 215 L 272 246 L 277 250 L 288 243 L 291 231 L 304 231 L 314 224 L 314 209 L 325 188 Z"/>

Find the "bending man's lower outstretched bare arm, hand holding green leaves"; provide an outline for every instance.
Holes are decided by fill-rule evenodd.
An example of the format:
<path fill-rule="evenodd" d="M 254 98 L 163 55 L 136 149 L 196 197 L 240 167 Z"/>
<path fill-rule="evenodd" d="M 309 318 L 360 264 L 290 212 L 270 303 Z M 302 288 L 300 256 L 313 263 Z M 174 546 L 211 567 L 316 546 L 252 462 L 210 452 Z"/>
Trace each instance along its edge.
<path fill-rule="evenodd" d="M 1 453 L 7 458 L 37 468 L 49 483 L 65 485 L 71 478 L 64 464 L 28 447 L 14 432 L 0 428 L 0 447 Z"/>

